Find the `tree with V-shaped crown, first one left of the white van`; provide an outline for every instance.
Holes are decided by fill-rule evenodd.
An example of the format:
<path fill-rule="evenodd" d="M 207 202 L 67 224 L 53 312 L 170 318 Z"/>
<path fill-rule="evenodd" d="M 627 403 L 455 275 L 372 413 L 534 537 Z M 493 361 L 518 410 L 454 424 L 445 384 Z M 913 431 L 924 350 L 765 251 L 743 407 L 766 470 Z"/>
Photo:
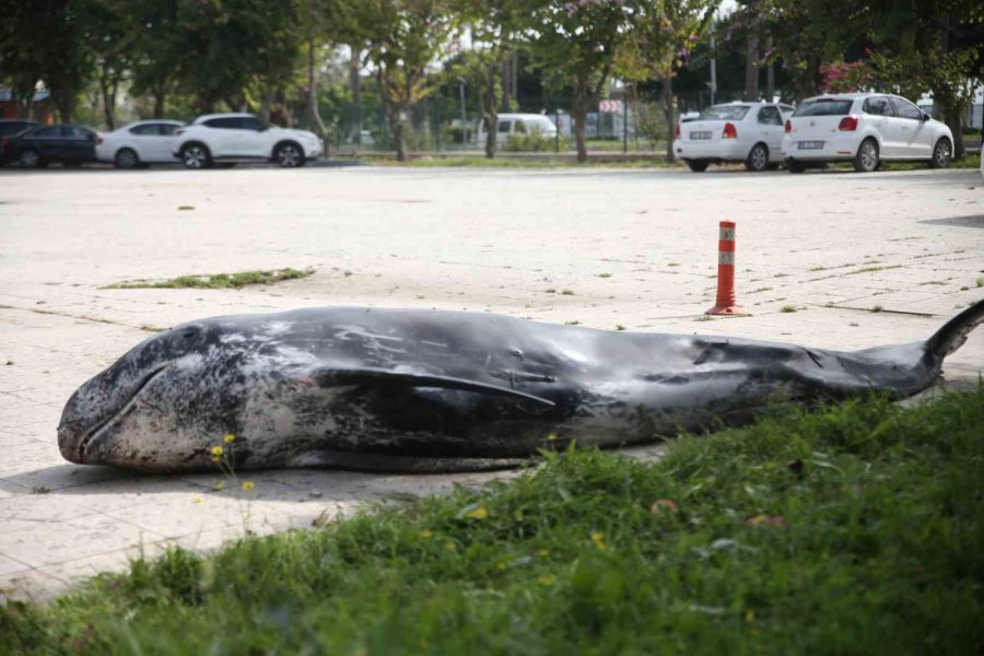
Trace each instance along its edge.
<path fill-rule="evenodd" d="M 360 31 L 386 106 L 397 160 L 407 159 L 405 124 L 435 89 L 427 67 L 446 57 L 458 33 L 450 0 L 363 0 Z"/>

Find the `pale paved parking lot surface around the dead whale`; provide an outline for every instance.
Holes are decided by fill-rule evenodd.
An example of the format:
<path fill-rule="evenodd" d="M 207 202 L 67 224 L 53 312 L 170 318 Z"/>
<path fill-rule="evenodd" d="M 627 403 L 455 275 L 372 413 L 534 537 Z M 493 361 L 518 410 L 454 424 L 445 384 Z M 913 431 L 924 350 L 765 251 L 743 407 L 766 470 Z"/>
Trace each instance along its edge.
<path fill-rule="evenodd" d="M 703 320 L 725 219 L 752 316 Z M 105 289 L 283 267 L 315 273 L 238 291 Z M 3 169 L 0 588 L 44 595 L 140 550 L 212 548 L 487 478 L 274 471 L 219 493 L 214 476 L 61 460 L 55 429 L 75 387 L 184 321 L 413 306 L 851 350 L 924 339 L 982 297 L 976 171 Z M 981 372 L 984 330 L 946 366 L 964 384 Z"/>

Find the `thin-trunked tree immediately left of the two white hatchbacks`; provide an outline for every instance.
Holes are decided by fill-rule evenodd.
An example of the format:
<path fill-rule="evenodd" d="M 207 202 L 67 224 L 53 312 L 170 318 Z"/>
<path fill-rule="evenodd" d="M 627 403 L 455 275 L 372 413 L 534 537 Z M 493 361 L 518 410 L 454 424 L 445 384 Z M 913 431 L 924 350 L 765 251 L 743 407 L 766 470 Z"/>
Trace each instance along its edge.
<path fill-rule="evenodd" d="M 629 81 L 659 80 L 666 120 L 666 159 L 675 161 L 676 102 L 672 80 L 683 59 L 710 24 L 714 0 L 657 0 L 640 2 L 633 12 L 633 30 L 621 45 L 617 72 Z"/>

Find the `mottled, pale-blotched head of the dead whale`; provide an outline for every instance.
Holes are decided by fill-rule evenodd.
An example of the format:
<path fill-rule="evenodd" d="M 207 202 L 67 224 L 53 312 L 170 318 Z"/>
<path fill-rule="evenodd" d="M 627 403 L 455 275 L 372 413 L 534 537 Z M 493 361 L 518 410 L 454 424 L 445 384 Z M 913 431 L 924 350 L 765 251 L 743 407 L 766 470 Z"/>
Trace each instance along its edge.
<path fill-rule="evenodd" d="M 145 470 L 213 465 L 211 447 L 237 429 L 247 340 L 216 321 L 157 333 L 82 385 L 58 426 L 61 455 Z"/>

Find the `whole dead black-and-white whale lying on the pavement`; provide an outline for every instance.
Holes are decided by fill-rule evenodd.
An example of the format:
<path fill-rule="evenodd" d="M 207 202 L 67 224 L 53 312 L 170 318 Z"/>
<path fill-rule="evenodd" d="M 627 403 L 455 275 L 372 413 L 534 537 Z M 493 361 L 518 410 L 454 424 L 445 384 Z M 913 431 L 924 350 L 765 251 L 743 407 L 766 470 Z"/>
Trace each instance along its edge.
<path fill-rule="evenodd" d="M 226 316 L 155 335 L 80 387 L 58 427 L 73 462 L 149 471 L 457 471 L 542 448 L 616 446 L 741 423 L 774 402 L 913 395 L 984 321 L 842 352 L 612 332 L 465 312 L 326 307 Z"/>

